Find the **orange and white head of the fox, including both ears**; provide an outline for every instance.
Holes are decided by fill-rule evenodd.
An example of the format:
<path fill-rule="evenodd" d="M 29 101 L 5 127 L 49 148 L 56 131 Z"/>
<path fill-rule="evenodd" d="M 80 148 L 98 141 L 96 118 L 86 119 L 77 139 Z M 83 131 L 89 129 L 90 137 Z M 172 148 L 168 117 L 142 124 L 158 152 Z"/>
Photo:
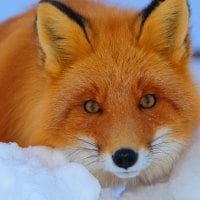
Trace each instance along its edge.
<path fill-rule="evenodd" d="M 52 77 L 50 145 L 59 140 L 59 147 L 74 148 L 71 160 L 100 177 L 151 182 L 169 172 L 197 116 L 187 71 L 188 5 L 153 1 L 137 14 L 99 7 L 92 18 L 59 2 L 38 6 L 39 42 Z"/>

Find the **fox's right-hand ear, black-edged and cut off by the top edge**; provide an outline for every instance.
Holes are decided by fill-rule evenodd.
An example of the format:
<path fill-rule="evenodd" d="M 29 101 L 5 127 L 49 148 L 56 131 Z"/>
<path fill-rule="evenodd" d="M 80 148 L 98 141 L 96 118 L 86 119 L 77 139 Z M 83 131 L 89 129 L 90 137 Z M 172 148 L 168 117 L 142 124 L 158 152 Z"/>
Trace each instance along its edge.
<path fill-rule="evenodd" d="M 141 13 L 139 45 L 179 62 L 190 55 L 187 0 L 153 0 Z"/>

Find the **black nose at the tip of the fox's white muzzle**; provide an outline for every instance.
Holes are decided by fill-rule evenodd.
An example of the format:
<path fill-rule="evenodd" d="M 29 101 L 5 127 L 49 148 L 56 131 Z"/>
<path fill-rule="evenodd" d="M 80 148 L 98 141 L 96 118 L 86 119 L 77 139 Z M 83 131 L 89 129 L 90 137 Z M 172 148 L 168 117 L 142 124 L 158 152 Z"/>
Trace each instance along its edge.
<path fill-rule="evenodd" d="M 120 149 L 115 152 L 112 159 L 118 167 L 128 169 L 136 163 L 138 154 L 132 149 Z"/>

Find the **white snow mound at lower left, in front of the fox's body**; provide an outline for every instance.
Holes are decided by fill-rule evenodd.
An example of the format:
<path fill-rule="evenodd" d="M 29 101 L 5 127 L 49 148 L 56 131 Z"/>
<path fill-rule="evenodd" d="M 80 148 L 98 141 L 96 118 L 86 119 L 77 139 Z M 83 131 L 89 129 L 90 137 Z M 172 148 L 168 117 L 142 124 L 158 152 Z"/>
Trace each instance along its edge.
<path fill-rule="evenodd" d="M 47 147 L 0 143 L 0 199 L 98 200 L 98 181 L 81 165 Z"/>

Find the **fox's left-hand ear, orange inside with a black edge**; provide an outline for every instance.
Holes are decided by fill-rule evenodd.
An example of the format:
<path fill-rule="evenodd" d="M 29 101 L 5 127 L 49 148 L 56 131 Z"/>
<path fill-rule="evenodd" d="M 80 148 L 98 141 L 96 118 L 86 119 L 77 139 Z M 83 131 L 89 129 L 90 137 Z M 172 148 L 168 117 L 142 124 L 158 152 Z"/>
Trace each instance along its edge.
<path fill-rule="evenodd" d="M 90 50 L 86 20 L 71 8 L 42 0 L 37 8 L 36 28 L 46 71 L 57 76 L 63 67 Z"/>

